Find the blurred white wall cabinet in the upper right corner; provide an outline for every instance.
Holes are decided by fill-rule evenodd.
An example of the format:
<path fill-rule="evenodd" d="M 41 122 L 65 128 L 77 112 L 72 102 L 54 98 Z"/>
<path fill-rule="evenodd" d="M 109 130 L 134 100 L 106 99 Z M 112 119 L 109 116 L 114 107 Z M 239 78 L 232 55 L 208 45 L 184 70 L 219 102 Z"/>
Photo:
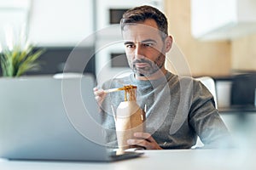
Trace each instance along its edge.
<path fill-rule="evenodd" d="M 256 32 L 254 0 L 191 0 L 191 33 L 200 40 L 230 40 Z"/>

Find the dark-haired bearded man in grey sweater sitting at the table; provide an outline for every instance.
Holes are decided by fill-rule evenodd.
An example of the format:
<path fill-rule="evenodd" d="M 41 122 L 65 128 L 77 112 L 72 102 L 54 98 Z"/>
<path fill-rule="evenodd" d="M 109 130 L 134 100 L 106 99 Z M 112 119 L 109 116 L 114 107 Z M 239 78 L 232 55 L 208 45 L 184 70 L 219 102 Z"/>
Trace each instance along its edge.
<path fill-rule="evenodd" d="M 106 82 L 103 89 L 137 86 L 137 103 L 146 111 L 144 133 L 134 133 L 130 146 L 148 150 L 189 149 L 197 136 L 209 147 L 218 147 L 229 132 L 215 109 L 212 94 L 191 77 L 178 77 L 165 68 L 172 48 L 166 16 L 157 8 L 141 6 L 123 14 L 120 21 L 125 54 L 134 74 Z M 109 146 L 116 146 L 112 113 L 124 100 L 122 92 L 105 94 L 95 88 L 102 106 L 102 126 Z"/>

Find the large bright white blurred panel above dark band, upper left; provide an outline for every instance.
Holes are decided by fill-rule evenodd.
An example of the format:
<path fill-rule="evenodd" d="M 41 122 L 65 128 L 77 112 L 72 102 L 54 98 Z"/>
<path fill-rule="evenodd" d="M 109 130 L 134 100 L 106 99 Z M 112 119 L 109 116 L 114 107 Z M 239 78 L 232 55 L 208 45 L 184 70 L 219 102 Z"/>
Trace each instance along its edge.
<path fill-rule="evenodd" d="M 93 46 L 93 0 L 32 1 L 28 38 L 41 47 Z M 85 40 L 86 37 L 86 40 Z"/>

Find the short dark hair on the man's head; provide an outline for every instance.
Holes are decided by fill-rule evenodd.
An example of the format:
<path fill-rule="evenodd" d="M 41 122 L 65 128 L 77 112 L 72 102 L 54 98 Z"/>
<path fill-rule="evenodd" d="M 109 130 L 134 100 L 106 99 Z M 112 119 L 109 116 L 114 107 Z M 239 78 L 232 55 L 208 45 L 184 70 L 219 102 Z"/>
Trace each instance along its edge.
<path fill-rule="evenodd" d="M 166 15 L 160 12 L 159 9 L 148 5 L 127 10 L 120 20 L 121 29 L 122 31 L 124 30 L 125 24 L 143 22 L 148 19 L 152 19 L 156 22 L 158 29 L 161 31 L 161 37 L 165 39 L 168 35 L 168 21 Z"/>

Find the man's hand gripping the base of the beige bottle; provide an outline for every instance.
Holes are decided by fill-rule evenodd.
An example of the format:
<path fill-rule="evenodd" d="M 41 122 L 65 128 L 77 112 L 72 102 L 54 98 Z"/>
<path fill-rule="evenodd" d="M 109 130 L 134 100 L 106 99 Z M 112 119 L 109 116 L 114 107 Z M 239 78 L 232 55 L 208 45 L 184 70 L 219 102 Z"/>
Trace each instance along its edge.
<path fill-rule="evenodd" d="M 162 150 L 149 133 L 134 133 L 135 139 L 128 139 L 127 144 L 141 146 L 146 150 Z"/>

